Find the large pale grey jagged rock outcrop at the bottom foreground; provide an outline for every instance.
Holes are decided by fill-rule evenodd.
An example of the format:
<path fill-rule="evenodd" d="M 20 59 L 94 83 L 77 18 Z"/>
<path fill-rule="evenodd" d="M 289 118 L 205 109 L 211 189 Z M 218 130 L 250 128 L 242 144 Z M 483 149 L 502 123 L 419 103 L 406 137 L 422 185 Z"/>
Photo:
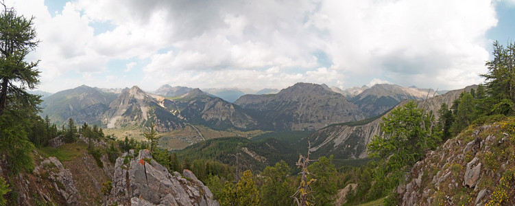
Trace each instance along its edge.
<path fill-rule="evenodd" d="M 168 170 L 152 159 L 148 150 L 134 150 L 119 157 L 106 205 L 219 205 L 195 175 Z"/>

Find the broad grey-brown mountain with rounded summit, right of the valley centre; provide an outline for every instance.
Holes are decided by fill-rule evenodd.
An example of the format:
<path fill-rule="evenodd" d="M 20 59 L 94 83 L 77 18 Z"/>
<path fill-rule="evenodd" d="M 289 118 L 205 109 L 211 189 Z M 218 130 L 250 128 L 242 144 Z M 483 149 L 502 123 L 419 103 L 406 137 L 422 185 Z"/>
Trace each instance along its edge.
<path fill-rule="evenodd" d="M 363 119 L 358 106 L 320 84 L 297 83 L 272 95 L 243 95 L 235 104 L 267 130 L 316 130 Z"/>

